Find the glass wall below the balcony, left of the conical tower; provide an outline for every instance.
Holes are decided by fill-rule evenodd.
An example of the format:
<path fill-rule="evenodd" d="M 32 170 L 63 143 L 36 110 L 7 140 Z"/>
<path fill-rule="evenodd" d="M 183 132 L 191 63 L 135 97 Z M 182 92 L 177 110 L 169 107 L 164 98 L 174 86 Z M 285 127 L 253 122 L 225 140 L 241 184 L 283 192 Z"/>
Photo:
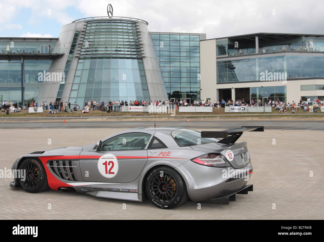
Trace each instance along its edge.
<path fill-rule="evenodd" d="M 30 104 L 36 100 L 42 82 L 37 73 L 48 71 L 51 60 L 24 61 L 24 100 Z M 21 103 L 21 60 L 0 60 L 0 101 Z"/>

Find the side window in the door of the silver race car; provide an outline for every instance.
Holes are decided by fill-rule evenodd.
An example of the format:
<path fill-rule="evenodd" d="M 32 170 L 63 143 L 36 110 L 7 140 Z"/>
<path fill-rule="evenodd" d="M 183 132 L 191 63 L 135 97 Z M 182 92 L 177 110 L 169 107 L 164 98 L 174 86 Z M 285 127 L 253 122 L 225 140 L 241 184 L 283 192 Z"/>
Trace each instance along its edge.
<path fill-rule="evenodd" d="M 98 151 L 145 149 L 151 135 L 146 133 L 126 133 L 102 142 Z"/>

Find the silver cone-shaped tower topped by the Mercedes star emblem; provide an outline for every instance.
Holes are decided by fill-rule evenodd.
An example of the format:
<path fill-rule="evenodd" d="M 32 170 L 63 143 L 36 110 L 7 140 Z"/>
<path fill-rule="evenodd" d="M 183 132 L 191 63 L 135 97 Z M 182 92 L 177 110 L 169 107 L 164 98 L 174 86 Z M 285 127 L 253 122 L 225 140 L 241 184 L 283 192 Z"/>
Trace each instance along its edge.
<path fill-rule="evenodd" d="M 57 45 L 69 52 L 50 71 L 64 71 L 64 83 L 44 83 L 38 100 L 86 101 L 166 100 L 153 42 L 141 19 L 94 17 L 65 25 Z M 52 66 L 51 66 L 52 67 Z M 50 90 L 50 91 L 48 91 Z M 52 90 L 52 91 L 51 91 Z"/>

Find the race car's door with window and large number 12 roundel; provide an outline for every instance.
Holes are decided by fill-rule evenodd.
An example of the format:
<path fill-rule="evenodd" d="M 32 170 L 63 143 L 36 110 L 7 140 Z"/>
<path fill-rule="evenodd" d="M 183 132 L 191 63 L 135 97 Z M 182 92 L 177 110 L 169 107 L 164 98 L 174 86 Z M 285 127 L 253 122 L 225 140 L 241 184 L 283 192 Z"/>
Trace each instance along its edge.
<path fill-rule="evenodd" d="M 87 182 L 132 182 L 147 161 L 150 134 L 125 133 L 102 142 L 95 151 L 80 153 L 80 170 Z"/>

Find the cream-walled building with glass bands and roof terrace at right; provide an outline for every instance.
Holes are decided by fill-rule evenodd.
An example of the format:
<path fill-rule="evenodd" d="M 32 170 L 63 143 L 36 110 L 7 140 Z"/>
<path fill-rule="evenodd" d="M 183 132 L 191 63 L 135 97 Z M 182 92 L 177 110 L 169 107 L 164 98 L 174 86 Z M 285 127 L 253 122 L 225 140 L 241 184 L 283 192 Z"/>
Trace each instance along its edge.
<path fill-rule="evenodd" d="M 200 45 L 203 98 L 324 100 L 314 88 L 324 84 L 324 35 L 257 33 Z"/>

